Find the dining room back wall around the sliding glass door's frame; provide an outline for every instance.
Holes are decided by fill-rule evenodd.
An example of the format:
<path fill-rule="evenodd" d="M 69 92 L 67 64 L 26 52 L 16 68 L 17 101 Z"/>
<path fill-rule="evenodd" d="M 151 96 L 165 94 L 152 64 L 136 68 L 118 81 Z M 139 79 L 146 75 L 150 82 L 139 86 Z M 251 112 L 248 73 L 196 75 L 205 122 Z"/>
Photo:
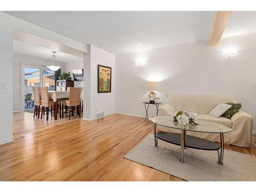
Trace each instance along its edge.
<path fill-rule="evenodd" d="M 13 54 L 13 112 L 23 111 L 23 99 L 22 91 L 20 87 L 22 83 L 20 82 L 20 62 L 35 64 L 39 66 L 47 66 L 52 62 L 51 59 L 42 59 L 38 57 L 33 57 L 29 55 Z M 59 66 L 65 66 L 66 63 L 58 62 Z M 62 68 L 61 68 L 62 72 Z"/>

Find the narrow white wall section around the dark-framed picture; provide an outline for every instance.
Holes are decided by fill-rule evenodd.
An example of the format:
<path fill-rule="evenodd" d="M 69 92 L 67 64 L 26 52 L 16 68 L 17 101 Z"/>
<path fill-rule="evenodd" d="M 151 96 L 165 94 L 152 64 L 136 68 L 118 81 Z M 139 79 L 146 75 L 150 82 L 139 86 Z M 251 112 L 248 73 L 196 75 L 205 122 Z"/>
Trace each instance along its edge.
<path fill-rule="evenodd" d="M 90 100 L 90 103 L 86 103 L 86 113 L 84 119 L 95 119 L 95 114 L 104 112 L 104 115 L 110 115 L 115 113 L 115 55 L 97 48 L 93 45 L 88 47 L 87 58 L 84 60 L 84 70 L 90 71 L 84 73 L 85 83 L 84 90 L 91 90 L 90 95 L 84 94 L 86 101 Z M 98 65 L 108 66 L 112 68 L 112 92 L 111 93 L 97 93 L 97 72 Z M 88 111 L 89 110 L 89 111 Z"/>

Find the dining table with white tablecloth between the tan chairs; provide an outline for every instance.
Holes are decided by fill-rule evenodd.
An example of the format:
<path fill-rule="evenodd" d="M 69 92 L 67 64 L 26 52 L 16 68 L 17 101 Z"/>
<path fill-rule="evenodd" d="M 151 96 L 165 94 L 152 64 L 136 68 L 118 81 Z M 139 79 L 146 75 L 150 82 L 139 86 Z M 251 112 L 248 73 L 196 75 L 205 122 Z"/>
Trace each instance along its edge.
<path fill-rule="evenodd" d="M 58 101 L 61 99 L 69 99 L 69 91 L 48 91 L 49 99 L 52 99 L 55 105 L 54 108 L 54 119 L 57 120 L 58 116 Z M 39 92 L 39 97 L 41 97 Z M 34 100 L 34 94 L 32 94 L 31 99 Z M 59 108 L 59 113 L 61 117 L 61 107 Z"/>

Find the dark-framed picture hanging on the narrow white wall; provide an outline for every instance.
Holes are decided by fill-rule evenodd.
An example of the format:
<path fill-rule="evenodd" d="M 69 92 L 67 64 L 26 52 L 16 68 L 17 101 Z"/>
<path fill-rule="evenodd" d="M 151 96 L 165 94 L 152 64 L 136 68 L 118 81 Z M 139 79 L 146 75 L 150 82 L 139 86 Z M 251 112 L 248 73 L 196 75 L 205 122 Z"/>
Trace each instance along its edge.
<path fill-rule="evenodd" d="M 98 93 L 111 93 L 111 67 L 98 65 Z"/>

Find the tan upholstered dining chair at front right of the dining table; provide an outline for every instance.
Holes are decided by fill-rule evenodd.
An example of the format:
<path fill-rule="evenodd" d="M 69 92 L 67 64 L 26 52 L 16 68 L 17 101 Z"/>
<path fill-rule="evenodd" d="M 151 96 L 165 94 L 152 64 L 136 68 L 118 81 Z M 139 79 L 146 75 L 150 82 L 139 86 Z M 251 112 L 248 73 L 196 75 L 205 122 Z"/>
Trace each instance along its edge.
<path fill-rule="evenodd" d="M 70 112 L 72 111 L 72 115 L 74 114 L 74 107 L 76 106 L 77 112 L 79 117 L 81 117 L 80 113 L 80 95 L 81 95 L 82 88 L 71 88 L 68 87 L 67 91 L 69 91 L 69 99 L 62 100 L 62 113 L 64 110 L 64 106 L 69 107 L 69 119 L 70 119 Z"/>

